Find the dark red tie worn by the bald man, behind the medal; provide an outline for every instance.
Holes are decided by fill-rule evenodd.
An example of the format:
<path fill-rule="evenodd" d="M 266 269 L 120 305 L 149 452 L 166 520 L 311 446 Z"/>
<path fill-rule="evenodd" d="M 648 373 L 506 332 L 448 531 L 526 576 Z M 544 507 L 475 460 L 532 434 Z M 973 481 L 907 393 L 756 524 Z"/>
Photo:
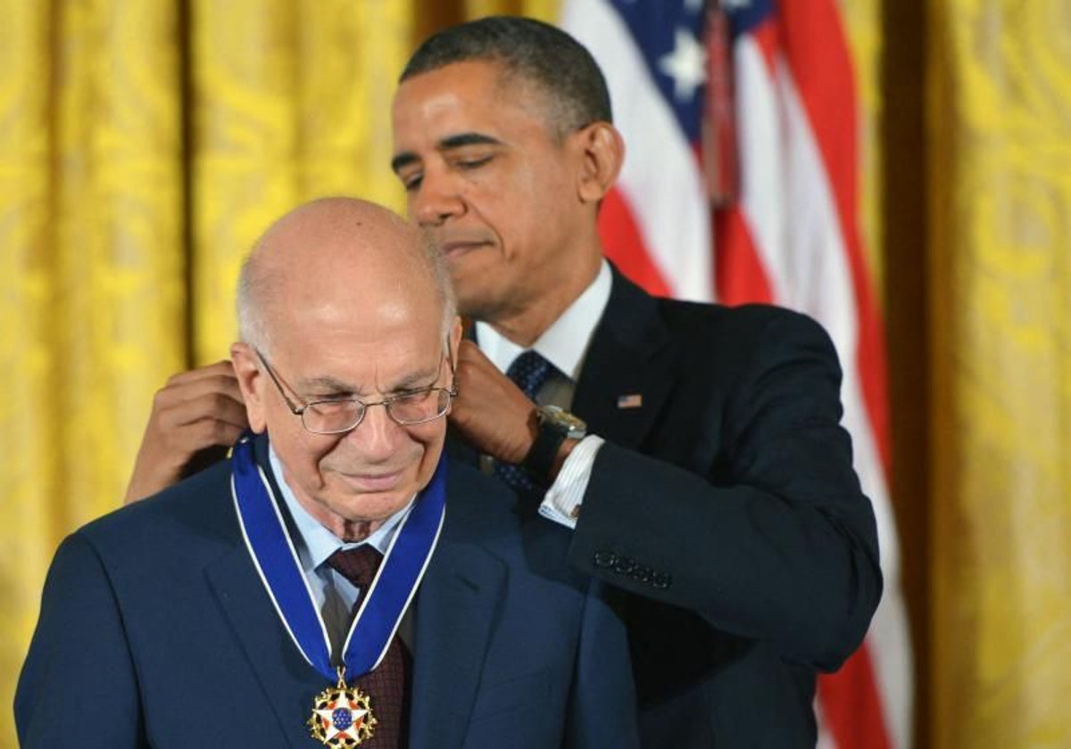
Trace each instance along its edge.
<path fill-rule="evenodd" d="M 376 577 L 381 560 L 382 554 L 368 545 L 348 551 L 340 550 L 328 557 L 328 564 L 360 591 L 357 602 L 353 603 L 355 614 L 372 579 Z M 357 679 L 357 686 L 369 697 L 372 712 L 379 721 L 372 738 L 361 745 L 362 749 L 394 749 L 406 745 L 409 717 L 407 685 L 411 671 L 412 659 L 395 635 L 379 667 Z"/>

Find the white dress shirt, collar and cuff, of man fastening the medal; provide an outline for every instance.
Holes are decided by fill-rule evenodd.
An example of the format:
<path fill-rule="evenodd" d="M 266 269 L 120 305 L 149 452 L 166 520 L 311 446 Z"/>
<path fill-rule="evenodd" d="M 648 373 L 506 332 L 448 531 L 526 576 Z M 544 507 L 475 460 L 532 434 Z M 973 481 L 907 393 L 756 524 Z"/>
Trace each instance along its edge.
<path fill-rule="evenodd" d="M 564 377 L 555 376 L 536 394 L 540 406 L 572 408 L 576 382 L 580 377 L 588 345 L 609 302 L 613 286 L 609 263 L 602 261 L 599 275 L 576 301 L 561 314 L 554 324 L 532 343 L 531 350 L 558 368 Z M 500 371 L 507 371 L 513 361 L 526 351 L 498 334 L 485 322 L 476 323 L 476 338 L 480 349 Z M 555 522 L 576 528 L 584 492 L 591 479 L 591 468 L 604 440 L 589 434 L 580 440 L 558 472 L 558 477 L 540 504 L 540 515 Z"/>

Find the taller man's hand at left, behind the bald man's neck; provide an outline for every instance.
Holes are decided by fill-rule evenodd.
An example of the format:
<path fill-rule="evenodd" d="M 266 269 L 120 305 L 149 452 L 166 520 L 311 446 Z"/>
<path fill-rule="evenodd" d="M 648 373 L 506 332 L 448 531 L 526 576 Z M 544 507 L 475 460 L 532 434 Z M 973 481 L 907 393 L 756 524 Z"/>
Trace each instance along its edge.
<path fill-rule="evenodd" d="M 153 398 L 124 503 L 221 460 L 248 426 L 230 362 L 175 374 Z"/>

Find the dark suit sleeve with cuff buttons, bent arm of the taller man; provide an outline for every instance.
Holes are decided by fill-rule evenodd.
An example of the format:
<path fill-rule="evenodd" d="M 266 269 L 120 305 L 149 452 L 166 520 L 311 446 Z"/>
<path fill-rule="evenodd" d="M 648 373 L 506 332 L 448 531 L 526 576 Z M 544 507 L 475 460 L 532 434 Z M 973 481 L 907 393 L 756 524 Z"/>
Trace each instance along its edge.
<path fill-rule="evenodd" d="M 570 561 L 834 670 L 881 594 L 873 509 L 840 426 L 836 355 L 815 322 L 782 312 L 743 361 L 711 426 L 722 446 L 707 475 L 602 446 Z"/>

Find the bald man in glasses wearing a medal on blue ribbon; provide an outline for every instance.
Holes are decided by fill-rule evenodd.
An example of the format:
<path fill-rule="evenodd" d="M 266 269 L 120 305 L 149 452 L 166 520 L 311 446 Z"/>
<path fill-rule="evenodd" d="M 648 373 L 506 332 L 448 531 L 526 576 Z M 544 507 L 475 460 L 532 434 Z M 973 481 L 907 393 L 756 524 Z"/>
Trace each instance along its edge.
<path fill-rule="evenodd" d="M 568 530 L 443 457 L 461 326 L 439 254 L 320 200 L 265 233 L 238 299 L 256 434 L 63 542 L 21 745 L 637 745 L 624 631 L 567 571 Z"/>

